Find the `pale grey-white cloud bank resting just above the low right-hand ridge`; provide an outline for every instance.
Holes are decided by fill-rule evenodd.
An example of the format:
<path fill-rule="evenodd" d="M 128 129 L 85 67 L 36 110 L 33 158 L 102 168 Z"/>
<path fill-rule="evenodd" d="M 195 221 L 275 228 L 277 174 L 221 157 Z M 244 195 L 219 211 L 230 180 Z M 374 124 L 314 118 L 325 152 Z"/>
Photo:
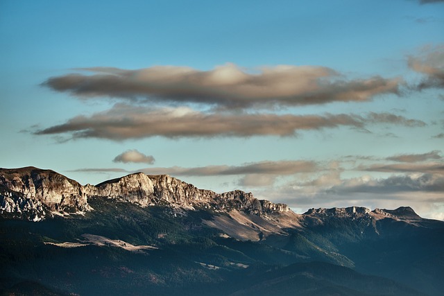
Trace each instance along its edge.
<path fill-rule="evenodd" d="M 374 209 L 411 206 L 431 218 L 444 212 L 444 177 L 436 174 L 369 176 L 342 180 L 338 174 L 323 175 L 311 182 L 291 182 L 256 194 L 260 198 L 279 200 L 293 209 L 312 207 L 365 206 Z"/>

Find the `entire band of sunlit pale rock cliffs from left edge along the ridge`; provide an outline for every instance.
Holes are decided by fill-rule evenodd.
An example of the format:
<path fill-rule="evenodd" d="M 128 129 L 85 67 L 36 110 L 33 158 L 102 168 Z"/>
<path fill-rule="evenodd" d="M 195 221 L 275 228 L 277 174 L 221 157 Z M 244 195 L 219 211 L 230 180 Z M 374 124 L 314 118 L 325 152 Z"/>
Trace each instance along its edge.
<path fill-rule="evenodd" d="M 169 175 L 134 173 L 96 186 L 82 186 L 51 170 L 0 168 L 0 186 L 3 189 L 0 191 L 1 213 L 23 214 L 26 218 L 38 216 L 40 219 L 51 211 L 63 214 L 89 211 L 89 197 L 112 198 L 142 207 L 156 204 L 185 209 L 206 207 L 255 215 L 291 211 L 286 204 L 257 200 L 252 193 L 239 190 L 215 193 Z"/>

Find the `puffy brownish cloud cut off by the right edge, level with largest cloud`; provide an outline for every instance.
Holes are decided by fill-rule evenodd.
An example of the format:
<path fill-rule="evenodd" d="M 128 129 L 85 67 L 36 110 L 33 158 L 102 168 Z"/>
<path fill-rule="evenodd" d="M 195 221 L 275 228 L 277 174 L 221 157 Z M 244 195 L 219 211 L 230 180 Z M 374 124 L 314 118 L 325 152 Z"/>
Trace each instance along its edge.
<path fill-rule="evenodd" d="M 426 76 L 417 86 L 419 90 L 444 87 L 444 45 L 426 46 L 420 55 L 410 56 L 409 67 Z"/>

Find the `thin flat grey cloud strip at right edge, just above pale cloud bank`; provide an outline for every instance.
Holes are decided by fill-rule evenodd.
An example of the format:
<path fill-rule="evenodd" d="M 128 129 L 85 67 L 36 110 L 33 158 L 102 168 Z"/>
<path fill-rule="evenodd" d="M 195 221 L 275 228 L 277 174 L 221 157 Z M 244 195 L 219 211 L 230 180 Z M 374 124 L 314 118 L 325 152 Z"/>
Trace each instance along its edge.
<path fill-rule="evenodd" d="M 385 173 L 434 173 L 444 175 L 444 164 L 442 162 L 418 164 L 372 164 L 370 166 L 359 166 L 357 170 Z"/>

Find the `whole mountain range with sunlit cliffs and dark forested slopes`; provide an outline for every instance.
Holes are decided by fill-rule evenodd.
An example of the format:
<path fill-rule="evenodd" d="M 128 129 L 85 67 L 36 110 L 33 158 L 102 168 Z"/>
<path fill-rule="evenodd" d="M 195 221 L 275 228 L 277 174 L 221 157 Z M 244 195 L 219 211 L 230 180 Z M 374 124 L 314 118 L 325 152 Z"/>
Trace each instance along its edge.
<path fill-rule="evenodd" d="M 251 193 L 215 193 L 168 175 L 82 186 L 50 170 L 0 168 L 0 229 L 6 295 L 444 289 L 444 222 L 410 207 L 296 214 Z"/>

